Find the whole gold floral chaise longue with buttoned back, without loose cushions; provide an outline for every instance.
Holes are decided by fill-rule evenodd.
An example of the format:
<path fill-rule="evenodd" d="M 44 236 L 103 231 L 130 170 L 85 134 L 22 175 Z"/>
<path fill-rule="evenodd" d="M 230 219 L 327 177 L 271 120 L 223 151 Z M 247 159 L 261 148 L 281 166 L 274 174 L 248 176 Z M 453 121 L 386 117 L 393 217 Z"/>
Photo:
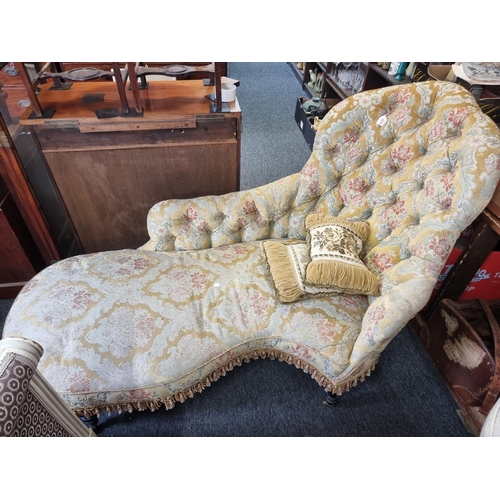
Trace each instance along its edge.
<path fill-rule="evenodd" d="M 137 250 L 81 255 L 17 297 L 4 336 L 45 348 L 40 370 L 77 414 L 171 408 L 252 358 L 341 394 L 427 303 L 460 233 L 500 177 L 500 132 L 473 96 L 429 81 L 354 95 L 322 120 L 300 173 L 156 204 Z M 304 219 L 366 220 L 380 296 L 276 300 L 263 240 Z"/>

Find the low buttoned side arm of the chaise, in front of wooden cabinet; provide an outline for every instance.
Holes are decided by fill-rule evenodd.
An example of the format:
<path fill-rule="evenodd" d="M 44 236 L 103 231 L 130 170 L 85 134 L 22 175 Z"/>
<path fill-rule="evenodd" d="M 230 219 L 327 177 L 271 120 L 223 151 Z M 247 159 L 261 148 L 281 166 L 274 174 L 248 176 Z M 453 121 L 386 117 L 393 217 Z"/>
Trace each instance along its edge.
<path fill-rule="evenodd" d="M 317 196 L 302 196 L 302 174 L 220 196 L 167 200 L 149 211 L 140 250 L 201 250 L 267 238 L 300 238 Z"/>

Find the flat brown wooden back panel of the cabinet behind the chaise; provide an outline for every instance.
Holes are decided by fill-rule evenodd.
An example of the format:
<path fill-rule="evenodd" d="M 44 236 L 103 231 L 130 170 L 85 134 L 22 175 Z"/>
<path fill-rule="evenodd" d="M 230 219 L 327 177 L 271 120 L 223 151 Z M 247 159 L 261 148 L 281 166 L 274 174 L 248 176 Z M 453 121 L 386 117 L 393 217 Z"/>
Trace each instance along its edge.
<path fill-rule="evenodd" d="M 230 143 L 45 152 L 85 253 L 146 243 L 158 201 L 239 189 L 239 146 Z"/>

